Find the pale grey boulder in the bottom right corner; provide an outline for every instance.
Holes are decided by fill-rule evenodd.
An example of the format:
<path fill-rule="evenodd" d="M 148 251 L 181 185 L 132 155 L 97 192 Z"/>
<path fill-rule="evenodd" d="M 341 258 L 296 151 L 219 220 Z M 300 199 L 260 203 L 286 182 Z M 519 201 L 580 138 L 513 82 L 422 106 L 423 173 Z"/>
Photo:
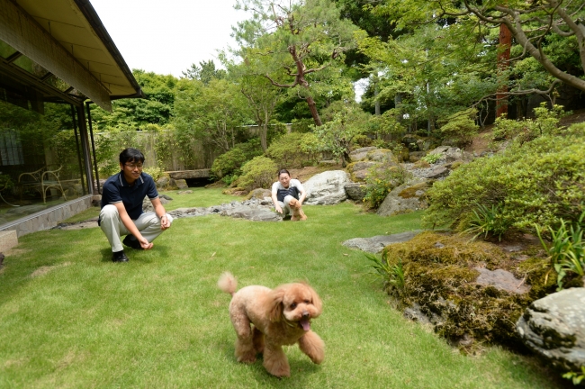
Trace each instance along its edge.
<path fill-rule="evenodd" d="M 524 343 L 564 371 L 585 366 L 585 288 L 564 289 L 531 303 L 516 323 Z"/>

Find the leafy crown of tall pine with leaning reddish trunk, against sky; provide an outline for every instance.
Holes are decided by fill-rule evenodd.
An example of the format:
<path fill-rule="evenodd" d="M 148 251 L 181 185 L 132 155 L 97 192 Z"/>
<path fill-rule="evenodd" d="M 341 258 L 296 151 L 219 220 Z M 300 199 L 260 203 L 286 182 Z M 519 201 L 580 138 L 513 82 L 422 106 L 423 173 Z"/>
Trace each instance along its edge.
<path fill-rule="evenodd" d="M 341 20 L 330 0 L 241 0 L 237 7 L 253 14 L 235 31 L 241 57 L 269 58 L 260 74 L 273 86 L 295 89 L 321 125 L 315 88 L 332 79 L 343 53 L 355 47 L 356 26 Z M 324 75 L 326 69 L 330 73 Z"/>

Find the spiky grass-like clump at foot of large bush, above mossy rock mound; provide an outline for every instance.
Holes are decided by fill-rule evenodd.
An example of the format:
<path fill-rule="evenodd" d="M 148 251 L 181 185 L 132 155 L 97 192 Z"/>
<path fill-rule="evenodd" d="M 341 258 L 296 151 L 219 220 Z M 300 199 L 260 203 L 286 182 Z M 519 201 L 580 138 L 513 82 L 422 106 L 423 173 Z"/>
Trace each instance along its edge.
<path fill-rule="evenodd" d="M 486 240 L 488 237 L 498 237 L 501 240 L 501 236 L 509 231 L 511 222 L 503 216 L 502 211 L 500 204 L 491 204 L 491 207 L 477 204 L 465 232 L 473 234 L 473 240 L 480 235 Z"/>

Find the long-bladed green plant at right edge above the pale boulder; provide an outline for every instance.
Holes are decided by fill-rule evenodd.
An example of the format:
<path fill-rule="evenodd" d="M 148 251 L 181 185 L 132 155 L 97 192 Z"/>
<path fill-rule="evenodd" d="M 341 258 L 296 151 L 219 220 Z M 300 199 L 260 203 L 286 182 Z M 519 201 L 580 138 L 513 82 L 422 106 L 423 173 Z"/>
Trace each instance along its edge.
<path fill-rule="evenodd" d="M 536 225 L 538 239 L 542 243 L 545 251 L 550 255 L 554 270 L 557 273 L 557 291 L 563 289 L 563 278 L 567 272 L 574 273 L 578 276 L 585 276 L 585 240 L 583 240 L 583 231 L 585 231 L 585 211 L 577 222 L 567 226 L 567 222 L 560 220 L 560 226 L 554 230 L 548 227 L 552 244 L 549 246 L 543 239 L 543 231 Z"/>

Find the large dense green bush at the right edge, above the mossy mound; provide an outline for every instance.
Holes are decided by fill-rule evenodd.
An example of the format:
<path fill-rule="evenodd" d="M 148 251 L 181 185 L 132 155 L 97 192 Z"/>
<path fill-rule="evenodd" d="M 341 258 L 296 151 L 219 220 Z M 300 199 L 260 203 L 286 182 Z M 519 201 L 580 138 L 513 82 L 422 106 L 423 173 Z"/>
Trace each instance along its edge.
<path fill-rule="evenodd" d="M 500 204 L 501 225 L 519 231 L 576 222 L 585 203 L 584 140 L 585 125 L 576 124 L 458 167 L 429 189 L 425 222 L 463 231 L 477 204 Z"/>

